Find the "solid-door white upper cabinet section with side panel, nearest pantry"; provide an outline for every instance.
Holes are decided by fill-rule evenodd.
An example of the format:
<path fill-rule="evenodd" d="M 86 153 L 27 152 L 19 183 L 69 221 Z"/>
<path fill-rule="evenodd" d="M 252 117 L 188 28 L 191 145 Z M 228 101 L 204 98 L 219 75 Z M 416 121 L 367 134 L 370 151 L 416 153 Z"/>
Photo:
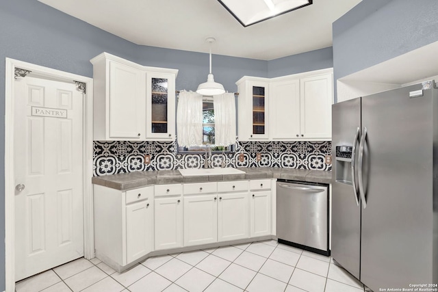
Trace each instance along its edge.
<path fill-rule="evenodd" d="M 142 66 L 107 53 L 91 62 L 94 140 L 144 140 L 146 74 Z"/>

